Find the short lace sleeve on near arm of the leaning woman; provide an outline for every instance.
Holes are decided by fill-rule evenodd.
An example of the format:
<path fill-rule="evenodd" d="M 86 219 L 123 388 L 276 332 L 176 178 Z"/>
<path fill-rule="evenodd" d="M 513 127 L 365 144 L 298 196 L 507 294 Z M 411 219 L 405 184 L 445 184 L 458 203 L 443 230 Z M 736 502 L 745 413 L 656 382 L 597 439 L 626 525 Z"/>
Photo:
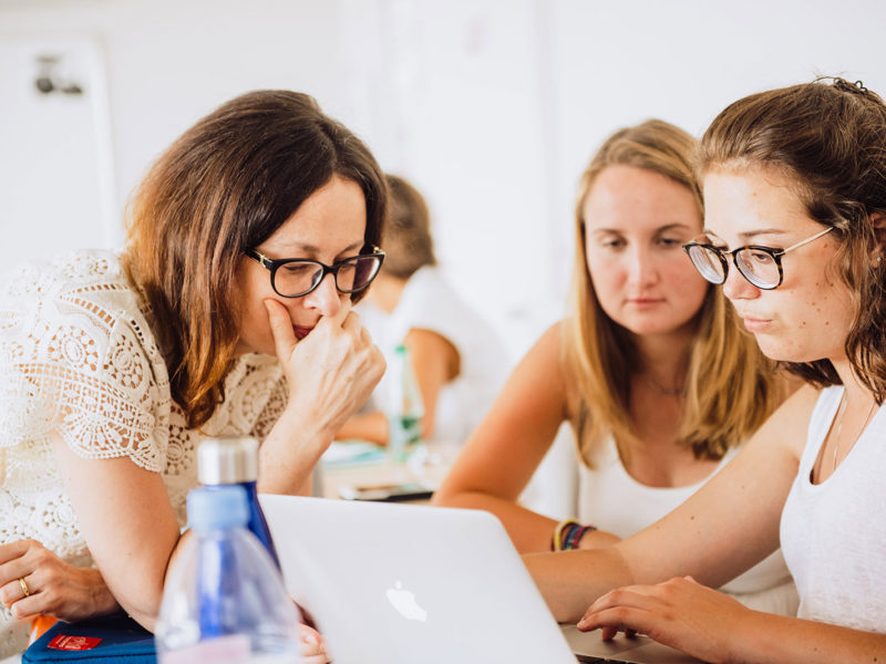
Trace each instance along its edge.
<path fill-rule="evenodd" d="M 146 324 L 125 310 L 71 304 L 43 302 L 30 321 L 19 321 L 18 335 L 7 335 L 0 439 L 17 445 L 54 430 L 82 457 L 126 456 L 161 471 L 169 402 Z"/>

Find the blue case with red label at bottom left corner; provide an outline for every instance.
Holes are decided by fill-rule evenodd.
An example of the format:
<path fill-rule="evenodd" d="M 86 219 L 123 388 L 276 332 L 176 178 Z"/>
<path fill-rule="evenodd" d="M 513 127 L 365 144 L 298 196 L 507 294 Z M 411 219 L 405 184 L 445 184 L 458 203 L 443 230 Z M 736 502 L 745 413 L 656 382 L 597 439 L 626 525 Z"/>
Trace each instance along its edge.
<path fill-rule="evenodd" d="M 78 623 L 56 622 L 21 656 L 37 662 L 156 664 L 154 635 L 123 613 Z"/>

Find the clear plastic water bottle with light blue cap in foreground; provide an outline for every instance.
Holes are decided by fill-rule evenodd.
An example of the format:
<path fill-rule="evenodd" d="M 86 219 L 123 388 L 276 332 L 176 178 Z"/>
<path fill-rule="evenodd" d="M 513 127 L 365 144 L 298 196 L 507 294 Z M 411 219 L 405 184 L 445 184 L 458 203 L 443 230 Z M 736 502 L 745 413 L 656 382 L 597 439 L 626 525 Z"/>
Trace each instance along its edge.
<path fill-rule="evenodd" d="M 200 487 L 187 497 L 192 532 L 163 588 L 159 664 L 292 664 L 299 615 L 267 549 L 246 529 L 246 491 Z"/>

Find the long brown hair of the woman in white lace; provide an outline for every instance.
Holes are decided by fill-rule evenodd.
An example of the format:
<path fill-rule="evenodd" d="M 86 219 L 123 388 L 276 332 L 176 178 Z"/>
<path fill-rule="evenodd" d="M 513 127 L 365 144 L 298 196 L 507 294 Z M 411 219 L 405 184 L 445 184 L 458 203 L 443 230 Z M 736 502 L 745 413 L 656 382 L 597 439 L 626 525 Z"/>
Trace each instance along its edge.
<path fill-rule="evenodd" d="M 362 188 L 365 245 L 378 245 L 387 189 L 369 149 L 310 96 L 257 91 L 197 122 L 136 189 L 123 267 L 151 311 L 188 426 L 204 424 L 225 398 L 243 250 L 270 237 L 336 174 Z"/>

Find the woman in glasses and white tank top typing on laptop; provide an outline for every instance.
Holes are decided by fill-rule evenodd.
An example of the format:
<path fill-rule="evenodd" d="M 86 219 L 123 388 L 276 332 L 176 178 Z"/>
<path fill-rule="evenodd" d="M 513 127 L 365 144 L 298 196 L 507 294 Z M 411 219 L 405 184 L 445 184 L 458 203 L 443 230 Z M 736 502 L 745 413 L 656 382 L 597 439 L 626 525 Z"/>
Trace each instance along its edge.
<path fill-rule="evenodd" d="M 707 662 L 882 662 L 886 104 L 841 79 L 751 95 L 714 120 L 698 163 L 705 232 L 684 249 L 808 385 L 649 529 L 526 562 L 559 620 L 605 639 L 643 632 Z M 797 618 L 709 588 L 780 544 Z"/>

